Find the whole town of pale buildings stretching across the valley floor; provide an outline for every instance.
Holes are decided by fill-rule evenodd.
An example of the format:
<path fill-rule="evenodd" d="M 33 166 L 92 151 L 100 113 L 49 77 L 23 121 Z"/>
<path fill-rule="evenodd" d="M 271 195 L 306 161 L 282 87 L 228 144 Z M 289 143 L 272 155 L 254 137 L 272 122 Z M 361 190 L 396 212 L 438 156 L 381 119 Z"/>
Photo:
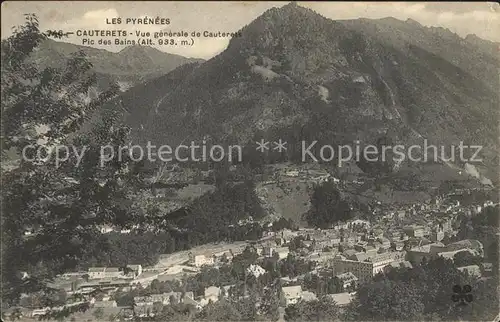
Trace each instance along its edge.
<path fill-rule="evenodd" d="M 304 175 L 300 172 L 288 173 L 289 176 Z M 160 258 L 155 267 L 127 265 L 125 267 L 91 267 L 86 272 L 67 273 L 60 276 L 59 286 L 68 295 L 78 295 L 81 303 L 88 301 L 94 308 L 117 309 L 112 299 L 117 291 L 131 291 L 136 287 L 148 286 L 153 280 L 182 279 L 186 274 L 196 274 L 204 266 L 218 267 L 230 262 L 236 255 L 251 246 L 261 258 L 275 257 L 285 259 L 290 254 L 315 263 L 314 270 L 308 275 L 335 278 L 339 287 L 327 296 L 339 306 L 348 305 L 355 295 L 358 285 L 370 282 L 373 277 L 385 273 L 392 267 L 408 267 L 436 257 L 453 259 L 460 252 L 474 256 L 484 255 L 483 245 L 477 240 L 450 242 L 457 234 L 464 217 L 478 214 L 482 205 L 463 207 L 458 201 L 434 199 L 427 203 L 401 207 L 376 206 L 373 218 L 351 220 L 331 229 L 284 229 L 266 231 L 256 242 L 241 242 L 218 245 L 168 254 Z M 455 238 L 456 240 L 457 238 Z M 299 241 L 299 242 L 297 242 Z M 293 245 L 293 247 L 292 247 Z M 459 268 L 471 275 L 480 277 L 491 263 L 481 267 L 468 265 Z M 252 264 L 248 275 L 259 277 L 266 270 Z M 285 305 L 298 301 L 311 301 L 317 295 L 304 289 L 305 276 L 283 277 L 281 294 Z M 193 292 L 169 292 L 134 297 L 131 309 L 137 316 L 154 316 L 163 305 L 186 303 L 202 309 L 210 302 L 229 296 L 232 285 L 205 288 L 204 295 L 195 298 Z M 95 293 L 104 293 L 96 299 Z M 31 316 L 46 313 L 47 308 L 33 310 Z"/>

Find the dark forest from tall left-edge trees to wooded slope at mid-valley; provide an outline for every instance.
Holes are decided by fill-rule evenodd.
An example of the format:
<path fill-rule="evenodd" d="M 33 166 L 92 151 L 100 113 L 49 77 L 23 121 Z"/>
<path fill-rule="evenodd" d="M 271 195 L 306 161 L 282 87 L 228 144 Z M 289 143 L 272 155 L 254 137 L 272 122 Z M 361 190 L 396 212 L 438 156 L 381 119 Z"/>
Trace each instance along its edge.
<path fill-rule="evenodd" d="M 263 215 L 251 178 L 235 184 L 217 175 L 216 191 L 174 213 L 136 202 L 147 189 L 143 164 L 128 155 L 100 163 L 100 148 L 124 145 L 130 129 L 112 110 L 92 128 L 82 129 L 116 97 L 118 87 L 89 96 L 95 75 L 83 52 L 72 54 L 60 68 L 39 70 L 28 58 L 49 37 L 64 33 L 42 32 L 37 17 L 26 15 L 26 23 L 2 40 L 2 163 L 11 165 L 2 168 L 5 303 L 44 289 L 46 281 L 64 271 L 94 264 L 153 264 L 160 253 L 261 237 L 259 225 L 237 225 L 242 218 Z M 38 131 L 41 125 L 49 130 Z M 73 149 L 61 151 L 63 144 Z M 21 158 L 26 147 L 33 149 Z M 47 151 L 48 160 L 37 160 L 37 149 Z M 79 160 L 80 151 L 85 154 Z M 56 155 L 65 162 L 54 164 Z M 102 225 L 155 229 L 103 235 Z M 21 279 L 19 272 L 29 278 Z"/>

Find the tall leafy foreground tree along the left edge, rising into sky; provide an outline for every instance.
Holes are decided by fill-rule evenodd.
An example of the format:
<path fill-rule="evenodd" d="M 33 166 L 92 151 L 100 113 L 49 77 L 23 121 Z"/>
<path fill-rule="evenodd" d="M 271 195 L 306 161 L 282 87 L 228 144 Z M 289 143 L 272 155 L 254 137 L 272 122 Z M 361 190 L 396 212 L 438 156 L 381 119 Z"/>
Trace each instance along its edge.
<path fill-rule="evenodd" d="M 90 131 L 82 130 L 118 86 L 89 96 L 96 78 L 83 52 L 60 68 L 38 70 L 28 59 L 48 37 L 62 36 L 41 32 L 37 17 L 28 14 L 1 45 L 2 162 L 13 164 L 2 169 L 2 297 L 11 303 L 46 288 L 45 281 L 99 249 L 99 225 L 130 227 L 138 214 L 130 207 L 138 186 L 130 159 L 100 164 L 101 146 L 117 151 L 128 129 L 104 113 Z M 37 131 L 40 126 L 48 130 Z M 37 160 L 36 149 L 50 159 Z M 17 153 L 14 160 L 7 150 Z M 53 164 L 56 155 L 67 160 Z M 24 238 L 27 228 L 35 233 Z M 21 279 L 18 271 L 30 277 Z"/>

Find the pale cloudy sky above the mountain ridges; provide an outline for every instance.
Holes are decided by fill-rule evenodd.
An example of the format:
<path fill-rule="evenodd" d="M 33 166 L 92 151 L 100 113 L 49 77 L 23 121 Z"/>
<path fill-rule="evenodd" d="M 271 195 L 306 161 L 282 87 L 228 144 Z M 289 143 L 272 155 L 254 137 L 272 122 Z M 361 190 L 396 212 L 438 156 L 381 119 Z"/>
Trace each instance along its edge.
<path fill-rule="evenodd" d="M 1 37 L 2 39 L 8 37 L 11 28 L 22 23 L 23 14 L 30 12 L 38 15 L 42 29 L 235 32 L 267 9 L 285 4 L 287 2 L 6 1 L 2 3 Z M 402 20 L 412 18 L 425 26 L 449 28 L 460 36 L 476 34 L 481 38 L 500 42 L 498 32 L 500 5 L 494 2 L 298 2 L 298 4 L 330 19 L 388 16 Z M 168 26 L 106 25 L 106 18 L 143 16 L 170 18 L 171 23 Z M 66 41 L 81 44 L 81 37 L 73 36 Z M 187 57 L 207 59 L 224 50 L 228 43 L 229 38 L 195 38 L 192 47 L 159 49 Z M 99 48 L 118 51 L 123 46 Z"/>

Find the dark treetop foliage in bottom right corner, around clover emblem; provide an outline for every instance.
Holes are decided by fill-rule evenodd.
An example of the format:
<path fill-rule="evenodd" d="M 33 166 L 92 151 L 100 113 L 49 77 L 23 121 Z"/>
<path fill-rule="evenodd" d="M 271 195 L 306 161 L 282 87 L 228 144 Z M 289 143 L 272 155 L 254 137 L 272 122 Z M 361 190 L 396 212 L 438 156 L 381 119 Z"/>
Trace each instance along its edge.
<path fill-rule="evenodd" d="M 471 286 L 473 305 L 457 307 L 450 300 L 454 285 Z M 497 285 L 497 279 L 484 283 L 439 257 L 375 276 L 358 289 L 346 316 L 356 320 L 491 320 L 498 314 Z"/>

